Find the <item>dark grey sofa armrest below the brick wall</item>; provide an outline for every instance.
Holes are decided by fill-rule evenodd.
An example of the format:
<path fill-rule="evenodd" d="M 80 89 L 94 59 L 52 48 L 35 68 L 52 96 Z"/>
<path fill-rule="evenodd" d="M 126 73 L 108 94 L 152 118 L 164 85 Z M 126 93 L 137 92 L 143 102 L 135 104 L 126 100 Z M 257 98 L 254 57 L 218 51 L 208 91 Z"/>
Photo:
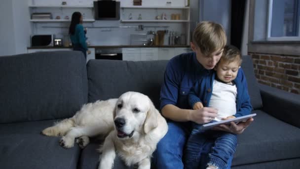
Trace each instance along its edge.
<path fill-rule="evenodd" d="M 300 127 L 300 95 L 259 84 L 263 111 L 288 124 Z"/>

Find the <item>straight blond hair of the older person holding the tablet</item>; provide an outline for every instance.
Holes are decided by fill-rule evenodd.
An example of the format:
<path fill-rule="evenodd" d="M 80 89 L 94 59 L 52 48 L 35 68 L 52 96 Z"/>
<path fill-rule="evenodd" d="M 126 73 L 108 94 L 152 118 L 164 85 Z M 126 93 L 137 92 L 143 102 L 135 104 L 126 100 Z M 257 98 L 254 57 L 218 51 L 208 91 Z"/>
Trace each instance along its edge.
<path fill-rule="evenodd" d="M 212 21 L 203 21 L 194 29 L 192 42 L 207 56 L 219 49 L 223 49 L 227 38 L 222 25 Z"/>

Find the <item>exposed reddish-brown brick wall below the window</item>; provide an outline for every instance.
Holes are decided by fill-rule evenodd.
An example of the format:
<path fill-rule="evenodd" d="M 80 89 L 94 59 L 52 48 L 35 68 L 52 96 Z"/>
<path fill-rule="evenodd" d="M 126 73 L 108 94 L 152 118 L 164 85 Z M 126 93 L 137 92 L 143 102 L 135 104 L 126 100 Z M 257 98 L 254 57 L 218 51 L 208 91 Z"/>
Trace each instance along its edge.
<path fill-rule="evenodd" d="M 248 54 L 259 83 L 300 94 L 300 56 Z"/>

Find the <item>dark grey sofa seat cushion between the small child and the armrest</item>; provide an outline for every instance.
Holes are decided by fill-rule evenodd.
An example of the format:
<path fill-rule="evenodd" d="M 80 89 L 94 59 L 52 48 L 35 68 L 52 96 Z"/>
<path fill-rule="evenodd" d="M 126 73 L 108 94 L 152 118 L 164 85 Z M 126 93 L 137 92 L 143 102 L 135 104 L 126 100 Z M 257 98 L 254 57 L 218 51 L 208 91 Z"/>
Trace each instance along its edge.
<path fill-rule="evenodd" d="M 232 165 L 300 158 L 300 128 L 255 110 L 254 122 L 238 135 Z"/>

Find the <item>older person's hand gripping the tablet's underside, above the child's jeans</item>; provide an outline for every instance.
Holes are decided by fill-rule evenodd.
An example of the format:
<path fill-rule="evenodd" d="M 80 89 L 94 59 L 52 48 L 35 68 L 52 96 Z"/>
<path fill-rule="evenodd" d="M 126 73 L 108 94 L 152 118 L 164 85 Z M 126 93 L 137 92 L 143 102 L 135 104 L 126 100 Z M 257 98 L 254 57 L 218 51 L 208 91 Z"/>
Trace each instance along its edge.
<path fill-rule="evenodd" d="M 231 132 L 233 134 L 241 134 L 253 121 L 254 119 L 251 118 L 248 119 L 246 122 L 240 122 L 238 124 L 235 124 L 234 122 L 230 122 L 230 125 L 222 124 L 220 126 L 213 127 L 213 129 Z"/>

